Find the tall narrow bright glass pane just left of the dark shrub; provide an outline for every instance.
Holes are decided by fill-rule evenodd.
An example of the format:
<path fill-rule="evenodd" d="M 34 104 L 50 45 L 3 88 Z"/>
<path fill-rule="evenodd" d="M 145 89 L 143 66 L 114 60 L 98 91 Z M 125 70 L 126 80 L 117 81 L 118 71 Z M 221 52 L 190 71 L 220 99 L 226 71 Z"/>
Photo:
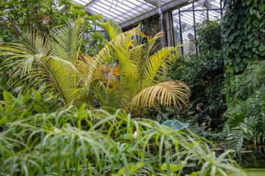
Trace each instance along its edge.
<path fill-rule="evenodd" d="M 183 40 L 183 54 L 195 53 L 195 31 L 193 12 L 181 12 L 181 31 Z"/>

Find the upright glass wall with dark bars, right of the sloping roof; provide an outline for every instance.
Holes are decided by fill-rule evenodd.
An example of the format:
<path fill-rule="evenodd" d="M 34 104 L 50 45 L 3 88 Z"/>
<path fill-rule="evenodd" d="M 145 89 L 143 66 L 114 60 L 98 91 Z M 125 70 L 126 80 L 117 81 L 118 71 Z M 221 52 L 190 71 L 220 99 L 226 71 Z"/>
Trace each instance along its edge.
<path fill-rule="evenodd" d="M 172 11 L 174 45 L 183 44 L 182 54 L 197 53 L 196 25 L 222 17 L 222 0 L 199 0 Z"/>

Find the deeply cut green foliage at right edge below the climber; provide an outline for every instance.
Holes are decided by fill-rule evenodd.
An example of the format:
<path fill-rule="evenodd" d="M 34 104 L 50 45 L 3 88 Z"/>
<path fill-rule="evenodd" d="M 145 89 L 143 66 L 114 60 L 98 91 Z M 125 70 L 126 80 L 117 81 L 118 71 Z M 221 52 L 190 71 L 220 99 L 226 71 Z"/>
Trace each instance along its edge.
<path fill-rule="evenodd" d="M 225 113 L 227 143 L 241 150 L 243 143 L 265 143 L 265 67 L 264 61 L 252 63 L 243 74 L 234 77 L 231 90 L 234 102 Z"/>

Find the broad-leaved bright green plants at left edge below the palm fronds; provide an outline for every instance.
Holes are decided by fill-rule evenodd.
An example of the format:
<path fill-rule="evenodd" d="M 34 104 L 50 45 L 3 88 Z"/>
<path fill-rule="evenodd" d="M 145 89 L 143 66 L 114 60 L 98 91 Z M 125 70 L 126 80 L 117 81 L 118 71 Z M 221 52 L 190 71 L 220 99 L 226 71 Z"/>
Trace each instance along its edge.
<path fill-rule="evenodd" d="M 63 106 L 59 97 L 52 93 L 45 93 L 45 84 L 38 90 L 31 88 L 21 92 L 22 86 L 17 88 L 16 95 L 3 90 L 3 100 L 0 100 L 0 125 L 5 127 L 8 122 L 15 122 L 29 118 L 36 113 L 56 111 Z"/>

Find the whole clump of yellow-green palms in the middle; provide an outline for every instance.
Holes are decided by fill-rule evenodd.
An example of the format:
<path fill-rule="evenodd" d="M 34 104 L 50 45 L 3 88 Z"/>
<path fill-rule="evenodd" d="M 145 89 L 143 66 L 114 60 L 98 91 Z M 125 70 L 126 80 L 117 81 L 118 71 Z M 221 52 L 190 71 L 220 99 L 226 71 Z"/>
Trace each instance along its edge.
<path fill-rule="evenodd" d="M 111 41 L 93 58 L 80 53 L 84 24 L 78 18 L 52 29 L 49 37 L 28 29 L 22 42 L 0 44 L 3 50 L 0 54 L 10 56 L 3 64 L 14 68 L 11 80 L 20 77 L 35 85 L 45 82 L 47 90 L 59 93 L 66 105 L 78 102 L 94 105 L 91 103 L 94 98 L 103 108 L 113 109 L 185 105 L 188 86 L 180 81 L 166 81 L 165 77 L 167 67 L 179 54 L 177 47 L 154 51 L 162 33 L 146 37 L 138 31 L 139 26 L 123 33 L 110 19 L 103 26 Z M 135 35 L 147 42 L 137 44 L 132 39 Z M 115 61 L 119 65 L 114 65 L 107 74 L 103 72 L 106 65 Z M 119 77 L 115 72 L 119 72 Z"/>

